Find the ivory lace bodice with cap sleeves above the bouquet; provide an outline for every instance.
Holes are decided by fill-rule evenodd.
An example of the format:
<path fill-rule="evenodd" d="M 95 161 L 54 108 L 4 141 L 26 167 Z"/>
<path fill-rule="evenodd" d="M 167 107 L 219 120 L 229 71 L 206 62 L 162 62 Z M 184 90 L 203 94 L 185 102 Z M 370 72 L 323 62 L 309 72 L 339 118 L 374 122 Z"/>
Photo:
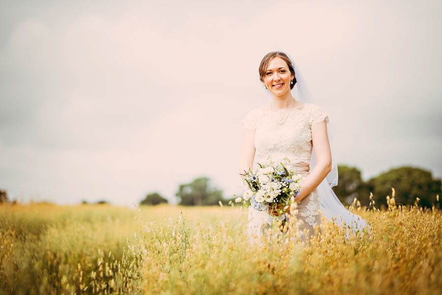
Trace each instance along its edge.
<path fill-rule="evenodd" d="M 274 161 L 287 157 L 291 163 L 310 164 L 312 141 L 311 127 L 324 120 L 327 114 L 317 105 L 305 103 L 301 108 L 293 108 L 284 124 L 288 110 L 272 112 L 267 108 L 254 109 L 241 121 L 246 129 L 255 130 L 255 163 L 269 156 Z"/>

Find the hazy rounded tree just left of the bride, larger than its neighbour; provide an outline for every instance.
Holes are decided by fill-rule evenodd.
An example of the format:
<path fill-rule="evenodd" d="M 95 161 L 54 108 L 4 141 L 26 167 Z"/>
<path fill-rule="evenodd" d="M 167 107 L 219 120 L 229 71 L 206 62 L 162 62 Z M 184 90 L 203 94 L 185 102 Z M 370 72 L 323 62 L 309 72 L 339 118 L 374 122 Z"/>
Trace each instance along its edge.
<path fill-rule="evenodd" d="M 210 179 L 200 177 L 191 183 L 180 184 L 178 192 L 175 194 L 181 198 L 179 205 L 184 206 L 214 206 L 223 201 L 222 191 L 211 187 Z"/>

